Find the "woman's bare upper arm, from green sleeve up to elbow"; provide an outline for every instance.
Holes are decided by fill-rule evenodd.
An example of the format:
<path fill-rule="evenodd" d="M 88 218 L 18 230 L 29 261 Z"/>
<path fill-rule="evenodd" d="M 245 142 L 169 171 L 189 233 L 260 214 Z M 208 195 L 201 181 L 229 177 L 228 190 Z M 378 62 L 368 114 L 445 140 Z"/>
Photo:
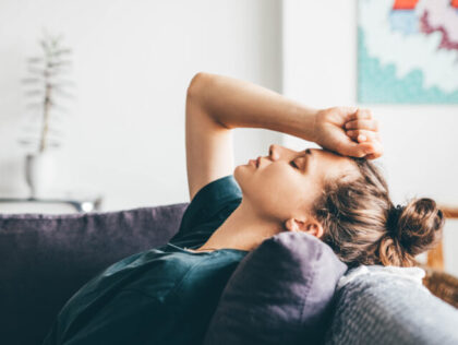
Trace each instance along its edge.
<path fill-rule="evenodd" d="M 205 185 L 233 172 L 231 130 L 202 106 L 202 88 L 212 76 L 197 73 L 188 87 L 185 114 L 186 170 L 190 200 Z"/>

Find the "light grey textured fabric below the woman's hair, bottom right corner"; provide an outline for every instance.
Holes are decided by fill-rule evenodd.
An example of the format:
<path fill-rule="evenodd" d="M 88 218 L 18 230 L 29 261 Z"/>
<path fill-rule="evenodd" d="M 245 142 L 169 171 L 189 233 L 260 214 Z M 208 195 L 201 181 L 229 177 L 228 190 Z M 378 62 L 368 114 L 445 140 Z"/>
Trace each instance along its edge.
<path fill-rule="evenodd" d="M 458 344 L 458 310 L 432 295 L 419 267 L 349 270 L 325 344 Z"/>

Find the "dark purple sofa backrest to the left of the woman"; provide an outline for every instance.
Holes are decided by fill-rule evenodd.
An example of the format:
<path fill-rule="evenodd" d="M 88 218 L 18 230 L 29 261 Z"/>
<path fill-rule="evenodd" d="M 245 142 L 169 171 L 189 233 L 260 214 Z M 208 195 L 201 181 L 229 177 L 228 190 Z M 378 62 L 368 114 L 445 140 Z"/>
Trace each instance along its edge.
<path fill-rule="evenodd" d="M 0 342 L 39 344 L 65 301 L 111 263 L 165 245 L 188 203 L 86 214 L 0 214 Z"/>

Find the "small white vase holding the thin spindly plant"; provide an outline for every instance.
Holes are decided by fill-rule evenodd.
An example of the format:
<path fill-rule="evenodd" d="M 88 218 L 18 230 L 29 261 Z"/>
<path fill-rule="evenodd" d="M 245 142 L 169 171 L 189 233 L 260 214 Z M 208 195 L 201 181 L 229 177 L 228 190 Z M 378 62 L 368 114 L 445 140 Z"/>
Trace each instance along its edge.
<path fill-rule="evenodd" d="M 55 156 L 49 151 L 28 154 L 25 159 L 25 178 L 31 189 L 32 198 L 49 195 L 55 181 Z"/>

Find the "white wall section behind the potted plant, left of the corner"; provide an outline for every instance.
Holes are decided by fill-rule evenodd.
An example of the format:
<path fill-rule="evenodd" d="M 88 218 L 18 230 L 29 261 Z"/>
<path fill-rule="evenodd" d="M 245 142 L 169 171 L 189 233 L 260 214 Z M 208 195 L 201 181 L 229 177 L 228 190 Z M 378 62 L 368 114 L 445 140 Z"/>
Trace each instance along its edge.
<path fill-rule="evenodd" d="M 189 201 L 184 99 L 194 73 L 232 75 L 280 91 L 276 0 L 2 0 L 0 194 L 25 195 L 26 117 L 20 80 L 43 27 L 74 50 L 74 102 L 60 128 L 57 186 L 105 195 L 104 210 Z M 266 154 L 278 133 L 234 131 L 236 165 Z"/>

